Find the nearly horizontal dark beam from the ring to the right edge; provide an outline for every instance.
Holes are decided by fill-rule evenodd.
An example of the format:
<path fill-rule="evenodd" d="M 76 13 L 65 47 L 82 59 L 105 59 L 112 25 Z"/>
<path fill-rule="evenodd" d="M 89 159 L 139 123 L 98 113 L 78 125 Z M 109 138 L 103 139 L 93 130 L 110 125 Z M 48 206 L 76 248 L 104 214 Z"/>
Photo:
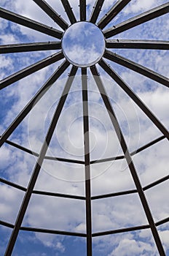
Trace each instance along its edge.
<path fill-rule="evenodd" d="M 106 48 L 169 50 L 169 41 L 107 39 Z"/>

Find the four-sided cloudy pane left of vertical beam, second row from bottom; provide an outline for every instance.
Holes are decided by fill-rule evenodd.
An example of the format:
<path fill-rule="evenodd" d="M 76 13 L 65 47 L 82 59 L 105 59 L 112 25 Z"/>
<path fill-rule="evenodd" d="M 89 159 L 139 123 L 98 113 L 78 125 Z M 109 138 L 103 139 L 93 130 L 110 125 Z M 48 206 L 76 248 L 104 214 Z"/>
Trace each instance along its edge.
<path fill-rule="evenodd" d="M 32 195 L 23 225 L 85 233 L 85 201 Z"/>

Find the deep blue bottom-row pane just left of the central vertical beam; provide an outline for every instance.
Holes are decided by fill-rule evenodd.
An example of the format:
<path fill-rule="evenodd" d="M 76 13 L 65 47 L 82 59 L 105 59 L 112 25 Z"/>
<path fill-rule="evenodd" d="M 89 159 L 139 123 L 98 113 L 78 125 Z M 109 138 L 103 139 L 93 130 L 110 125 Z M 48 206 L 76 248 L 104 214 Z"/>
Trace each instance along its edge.
<path fill-rule="evenodd" d="M 85 238 L 20 231 L 14 256 L 86 255 Z"/>

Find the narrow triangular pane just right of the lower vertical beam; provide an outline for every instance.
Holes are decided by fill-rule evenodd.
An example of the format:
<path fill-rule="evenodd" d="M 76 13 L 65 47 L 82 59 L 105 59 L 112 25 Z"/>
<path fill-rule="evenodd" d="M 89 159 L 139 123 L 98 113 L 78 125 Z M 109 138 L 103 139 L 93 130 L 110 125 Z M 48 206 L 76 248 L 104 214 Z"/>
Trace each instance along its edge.
<path fill-rule="evenodd" d="M 107 84 L 107 83 L 106 83 Z M 122 155 L 109 112 L 92 77 L 89 77 L 89 120 L 91 160 Z"/>

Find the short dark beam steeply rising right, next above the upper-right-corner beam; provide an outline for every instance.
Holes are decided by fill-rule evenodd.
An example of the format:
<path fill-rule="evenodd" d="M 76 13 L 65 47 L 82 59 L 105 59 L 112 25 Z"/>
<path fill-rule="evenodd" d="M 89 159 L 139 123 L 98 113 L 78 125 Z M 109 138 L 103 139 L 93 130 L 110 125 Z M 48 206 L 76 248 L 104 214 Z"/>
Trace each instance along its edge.
<path fill-rule="evenodd" d="M 98 21 L 98 27 L 100 29 L 104 29 L 106 25 L 116 17 L 116 15 L 121 12 L 121 10 L 130 2 L 131 0 L 119 0 L 116 4 L 114 4 L 113 7 L 111 7 L 111 10 L 106 13 L 106 15 L 101 18 L 101 20 Z"/>

